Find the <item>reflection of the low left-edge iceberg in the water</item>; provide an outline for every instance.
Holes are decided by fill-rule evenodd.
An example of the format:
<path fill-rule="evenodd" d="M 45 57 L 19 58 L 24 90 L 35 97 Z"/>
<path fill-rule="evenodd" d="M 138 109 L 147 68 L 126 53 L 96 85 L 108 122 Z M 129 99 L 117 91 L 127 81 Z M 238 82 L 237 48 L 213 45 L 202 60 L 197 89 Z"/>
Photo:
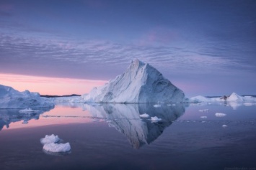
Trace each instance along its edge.
<path fill-rule="evenodd" d="M 37 112 L 32 113 L 20 113 L 22 109 L 0 109 L 0 131 L 4 126 L 9 128 L 10 123 L 23 121 L 28 123 L 31 119 L 38 120 L 40 114 L 43 114 L 53 108 L 36 108 Z"/>

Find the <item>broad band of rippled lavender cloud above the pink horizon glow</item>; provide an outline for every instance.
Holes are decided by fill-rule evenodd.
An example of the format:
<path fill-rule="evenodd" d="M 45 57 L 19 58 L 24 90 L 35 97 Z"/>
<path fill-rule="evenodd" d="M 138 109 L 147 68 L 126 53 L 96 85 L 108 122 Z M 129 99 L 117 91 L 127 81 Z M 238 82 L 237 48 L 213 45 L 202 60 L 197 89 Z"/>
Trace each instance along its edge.
<path fill-rule="evenodd" d="M 45 72 L 52 76 L 105 77 L 123 72 L 131 60 L 149 62 L 169 72 L 224 72 L 252 65 L 227 57 L 221 49 L 120 44 L 108 41 L 40 39 L 0 34 L 0 72 Z M 104 74 L 102 74 L 104 72 Z M 117 73 L 118 72 L 118 73 Z M 58 73 L 58 75 L 57 75 Z M 43 73 L 42 73 L 43 74 Z"/>

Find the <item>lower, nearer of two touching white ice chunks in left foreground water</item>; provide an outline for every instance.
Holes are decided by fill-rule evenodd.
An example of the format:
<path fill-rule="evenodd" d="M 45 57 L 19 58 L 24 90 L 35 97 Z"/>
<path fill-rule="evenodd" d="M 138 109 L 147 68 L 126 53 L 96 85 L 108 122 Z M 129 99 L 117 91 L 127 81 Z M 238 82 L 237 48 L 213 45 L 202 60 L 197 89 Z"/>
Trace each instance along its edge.
<path fill-rule="evenodd" d="M 43 146 L 45 151 L 50 152 L 68 152 L 71 150 L 71 146 L 68 143 L 45 143 Z"/>

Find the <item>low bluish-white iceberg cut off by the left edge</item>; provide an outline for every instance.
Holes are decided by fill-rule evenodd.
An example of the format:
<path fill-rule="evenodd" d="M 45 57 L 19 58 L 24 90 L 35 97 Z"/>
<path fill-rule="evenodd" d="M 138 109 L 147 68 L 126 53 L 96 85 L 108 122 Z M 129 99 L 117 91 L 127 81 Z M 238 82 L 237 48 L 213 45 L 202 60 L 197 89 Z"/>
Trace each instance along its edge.
<path fill-rule="evenodd" d="M 54 104 L 40 97 L 39 93 L 0 85 L 0 108 L 53 108 Z"/>

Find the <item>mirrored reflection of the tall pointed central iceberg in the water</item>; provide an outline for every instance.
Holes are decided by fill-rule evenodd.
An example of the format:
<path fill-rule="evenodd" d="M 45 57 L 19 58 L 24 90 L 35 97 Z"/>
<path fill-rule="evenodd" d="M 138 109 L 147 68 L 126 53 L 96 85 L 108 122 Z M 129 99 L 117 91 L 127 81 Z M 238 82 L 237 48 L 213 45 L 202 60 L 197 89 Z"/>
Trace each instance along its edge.
<path fill-rule="evenodd" d="M 156 140 L 183 113 L 183 105 L 162 105 L 154 108 L 151 104 L 102 104 L 84 105 L 92 116 L 107 120 L 110 127 L 123 133 L 133 148 L 140 148 Z M 149 114 L 149 119 L 141 119 L 140 114 Z M 151 123 L 150 118 L 157 116 L 162 121 Z"/>

